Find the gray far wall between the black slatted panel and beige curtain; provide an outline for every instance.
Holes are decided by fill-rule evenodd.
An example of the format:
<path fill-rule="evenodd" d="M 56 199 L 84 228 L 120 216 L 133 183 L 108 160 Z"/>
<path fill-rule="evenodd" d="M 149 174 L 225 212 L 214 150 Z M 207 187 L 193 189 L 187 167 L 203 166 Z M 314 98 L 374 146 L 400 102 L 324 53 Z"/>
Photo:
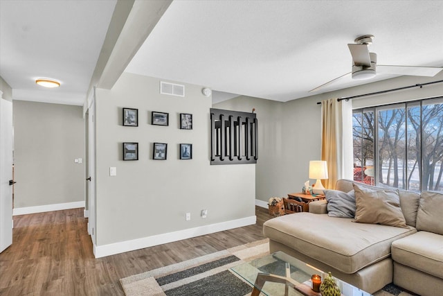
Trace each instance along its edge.
<path fill-rule="evenodd" d="M 298 192 L 308 180 L 309 160 L 320 155 L 320 105 L 309 98 L 281 103 L 239 96 L 215 104 L 226 110 L 251 112 L 258 119 L 258 160 L 255 191 L 258 200 Z"/>

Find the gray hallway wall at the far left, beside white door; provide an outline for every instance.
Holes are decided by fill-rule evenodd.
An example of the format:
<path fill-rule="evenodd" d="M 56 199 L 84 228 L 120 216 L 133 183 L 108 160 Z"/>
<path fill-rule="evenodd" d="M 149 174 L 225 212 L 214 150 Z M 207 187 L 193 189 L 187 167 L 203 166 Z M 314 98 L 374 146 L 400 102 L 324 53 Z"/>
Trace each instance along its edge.
<path fill-rule="evenodd" d="M 15 208 L 84 200 L 82 107 L 13 101 Z"/>

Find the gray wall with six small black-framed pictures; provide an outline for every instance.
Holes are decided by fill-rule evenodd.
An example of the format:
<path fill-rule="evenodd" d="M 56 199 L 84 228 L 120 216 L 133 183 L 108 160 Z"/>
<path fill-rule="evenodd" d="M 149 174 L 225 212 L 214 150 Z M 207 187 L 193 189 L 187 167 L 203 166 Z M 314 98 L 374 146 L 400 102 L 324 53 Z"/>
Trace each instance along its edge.
<path fill-rule="evenodd" d="M 98 246 L 255 216 L 255 165 L 210 166 L 211 98 L 198 85 L 186 85 L 184 98 L 159 94 L 159 85 L 123 73 L 111 90 L 97 89 Z M 122 125 L 123 107 L 138 109 L 138 127 Z M 169 126 L 151 125 L 152 111 L 168 112 Z M 179 129 L 180 113 L 192 114 L 192 130 Z M 125 141 L 138 142 L 138 161 L 123 161 Z M 152 159 L 154 142 L 168 143 L 167 160 Z M 179 159 L 179 143 L 192 143 L 191 160 Z"/>

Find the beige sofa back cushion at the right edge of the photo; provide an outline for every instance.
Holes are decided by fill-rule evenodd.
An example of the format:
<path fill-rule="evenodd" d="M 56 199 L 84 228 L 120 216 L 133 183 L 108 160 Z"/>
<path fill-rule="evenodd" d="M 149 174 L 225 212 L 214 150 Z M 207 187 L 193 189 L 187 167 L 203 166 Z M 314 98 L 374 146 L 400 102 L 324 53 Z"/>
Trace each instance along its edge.
<path fill-rule="evenodd" d="M 417 229 L 443 234 L 443 194 L 424 191 L 417 211 Z"/>

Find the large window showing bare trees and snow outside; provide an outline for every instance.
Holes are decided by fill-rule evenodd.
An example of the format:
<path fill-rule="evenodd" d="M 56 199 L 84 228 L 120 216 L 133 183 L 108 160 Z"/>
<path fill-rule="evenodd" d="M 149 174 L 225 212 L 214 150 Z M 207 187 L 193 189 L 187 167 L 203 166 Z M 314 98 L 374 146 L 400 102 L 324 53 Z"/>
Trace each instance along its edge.
<path fill-rule="evenodd" d="M 354 110 L 354 181 L 443 191 L 443 97 Z"/>

